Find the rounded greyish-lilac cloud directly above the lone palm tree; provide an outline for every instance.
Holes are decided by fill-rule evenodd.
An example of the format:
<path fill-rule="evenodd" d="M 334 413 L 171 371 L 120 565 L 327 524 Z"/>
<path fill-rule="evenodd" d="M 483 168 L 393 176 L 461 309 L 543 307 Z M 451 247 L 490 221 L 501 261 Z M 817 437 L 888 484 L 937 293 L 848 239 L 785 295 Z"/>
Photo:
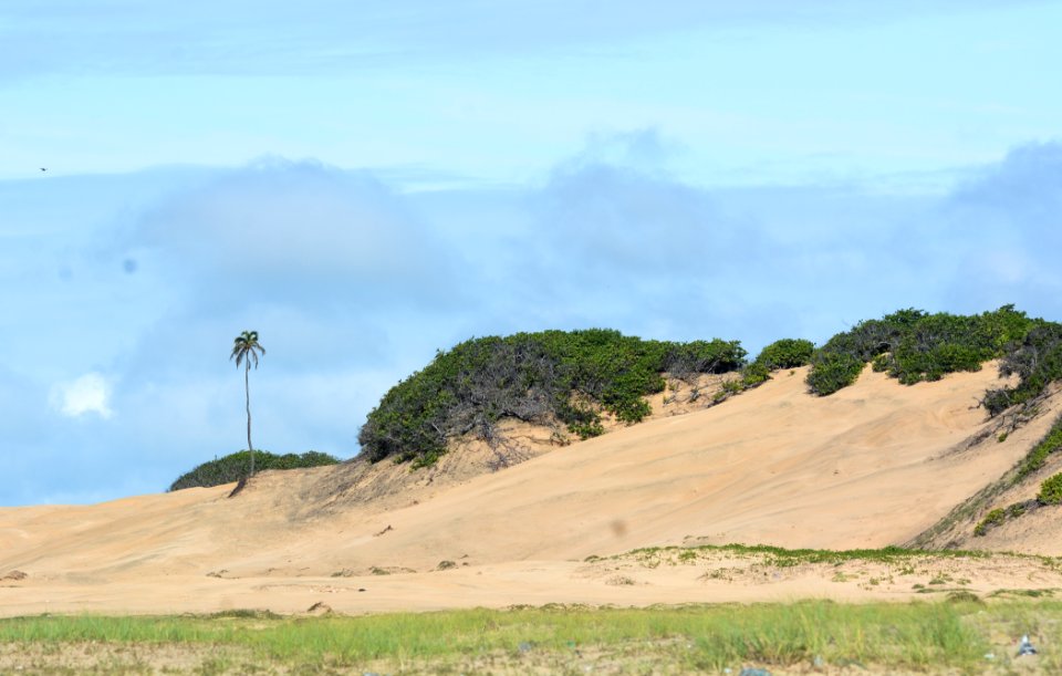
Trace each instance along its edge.
<path fill-rule="evenodd" d="M 248 298 L 440 301 L 455 280 L 400 195 L 368 171 L 313 160 L 267 157 L 179 191 L 145 211 L 125 243 L 124 258 L 156 254 L 226 309 Z"/>

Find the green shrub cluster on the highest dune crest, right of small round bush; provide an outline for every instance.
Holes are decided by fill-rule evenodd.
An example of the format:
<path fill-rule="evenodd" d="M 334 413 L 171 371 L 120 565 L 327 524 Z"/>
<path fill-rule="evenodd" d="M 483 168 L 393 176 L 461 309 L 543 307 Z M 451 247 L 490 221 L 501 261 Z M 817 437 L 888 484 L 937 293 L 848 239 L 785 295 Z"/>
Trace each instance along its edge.
<path fill-rule="evenodd" d="M 1013 305 L 976 315 L 900 310 L 830 339 L 811 358 L 808 385 L 814 394 L 833 394 L 854 383 L 867 362 L 905 385 L 978 371 L 1041 324 Z"/>

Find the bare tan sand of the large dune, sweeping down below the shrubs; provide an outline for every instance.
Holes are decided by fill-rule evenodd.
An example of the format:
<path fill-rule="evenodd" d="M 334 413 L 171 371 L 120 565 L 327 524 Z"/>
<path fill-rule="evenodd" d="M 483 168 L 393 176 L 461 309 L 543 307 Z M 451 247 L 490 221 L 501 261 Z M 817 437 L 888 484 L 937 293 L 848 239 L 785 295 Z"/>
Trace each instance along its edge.
<path fill-rule="evenodd" d="M 1038 422 L 1003 444 L 967 444 L 985 429 L 976 403 L 996 381 L 993 368 L 915 387 L 867 372 L 826 398 L 806 395 L 803 375 L 782 373 L 721 406 L 456 486 L 429 482 L 386 510 L 356 500 L 325 509 L 322 488 L 344 468 L 267 472 L 233 499 L 226 498 L 231 487 L 219 487 L 0 510 L 0 578 L 27 574 L 0 581 L 0 614 L 902 596 L 906 581 L 839 582 L 824 569 L 764 573 L 753 583 L 743 574 L 704 579 L 704 561 L 583 560 L 684 542 L 904 542 L 1042 434 Z M 1043 553 L 1062 554 L 1062 544 L 1051 547 L 1058 551 Z M 456 565 L 437 571 L 442 561 Z M 1013 579 L 975 563 L 956 575 L 985 590 L 1062 586 L 1034 562 L 1008 561 L 997 568 Z"/>

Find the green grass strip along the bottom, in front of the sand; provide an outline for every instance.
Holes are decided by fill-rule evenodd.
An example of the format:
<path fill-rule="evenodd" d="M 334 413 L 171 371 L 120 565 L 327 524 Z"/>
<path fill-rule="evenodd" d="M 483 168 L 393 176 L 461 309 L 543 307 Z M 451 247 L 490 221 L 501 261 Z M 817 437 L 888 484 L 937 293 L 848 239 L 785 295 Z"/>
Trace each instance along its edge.
<path fill-rule="evenodd" d="M 152 651 L 176 646 L 199 656 L 185 665 L 198 673 L 278 667 L 299 673 L 579 673 L 586 667 L 642 673 L 653 665 L 654 673 L 718 673 L 813 661 L 886 672 L 979 673 L 987 653 L 1010 659 L 1010 642 L 1022 634 L 1041 646 L 1045 673 L 1062 669 L 1055 647 L 1062 646 L 1062 602 L 1043 599 L 643 610 L 546 606 L 312 618 L 253 612 L 34 616 L 0 621 L 0 672 L 15 670 L 20 665 L 13 661 L 20 655 L 30 662 L 19 670 L 32 673 L 35 664 L 43 672 L 61 672 L 58 656 L 70 652 L 83 658 L 93 649 L 102 661 L 96 670 L 121 672 L 122 655 L 143 666 L 152 662 Z M 123 646 L 128 649 L 123 652 Z"/>

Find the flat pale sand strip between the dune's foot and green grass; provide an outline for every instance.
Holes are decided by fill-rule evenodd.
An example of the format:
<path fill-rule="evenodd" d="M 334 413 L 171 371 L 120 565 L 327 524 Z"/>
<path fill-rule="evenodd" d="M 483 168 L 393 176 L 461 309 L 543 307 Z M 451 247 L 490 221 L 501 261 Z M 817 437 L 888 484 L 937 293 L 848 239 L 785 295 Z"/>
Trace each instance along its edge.
<path fill-rule="evenodd" d="M 681 552 L 691 552 L 686 559 Z M 1058 562 L 995 554 L 987 559 L 916 558 L 879 562 L 778 565 L 769 557 L 676 549 L 592 561 L 521 561 L 446 571 L 363 571 L 348 576 L 170 575 L 115 580 L 25 581 L 6 593 L 2 615 L 104 612 L 211 613 L 256 609 L 313 614 L 320 603 L 344 614 L 508 607 L 546 603 L 648 606 L 683 603 L 909 601 L 969 591 L 985 597 L 1013 590 L 1062 597 Z"/>

